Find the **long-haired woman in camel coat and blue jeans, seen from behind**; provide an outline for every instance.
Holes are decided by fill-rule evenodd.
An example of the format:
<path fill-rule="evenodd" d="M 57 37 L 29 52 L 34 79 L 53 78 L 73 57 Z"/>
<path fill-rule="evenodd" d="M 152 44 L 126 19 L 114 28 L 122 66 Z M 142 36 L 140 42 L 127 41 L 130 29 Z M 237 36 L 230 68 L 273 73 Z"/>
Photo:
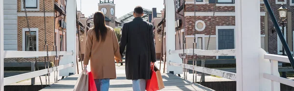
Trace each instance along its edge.
<path fill-rule="evenodd" d="M 122 61 L 119 42 L 113 28 L 105 25 L 104 14 L 94 14 L 94 27 L 88 31 L 84 66 L 91 61 L 97 91 L 108 91 L 109 80 L 116 78 L 115 62 Z"/>

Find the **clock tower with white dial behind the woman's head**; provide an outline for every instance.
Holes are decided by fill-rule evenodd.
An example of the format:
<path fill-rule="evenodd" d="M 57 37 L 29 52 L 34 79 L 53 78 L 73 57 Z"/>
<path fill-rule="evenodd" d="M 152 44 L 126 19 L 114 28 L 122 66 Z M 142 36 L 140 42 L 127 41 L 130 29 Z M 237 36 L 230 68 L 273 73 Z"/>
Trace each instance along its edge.
<path fill-rule="evenodd" d="M 98 3 L 98 10 L 103 12 L 106 25 L 115 28 L 114 0 L 100 0 L 100 3 Z"/>

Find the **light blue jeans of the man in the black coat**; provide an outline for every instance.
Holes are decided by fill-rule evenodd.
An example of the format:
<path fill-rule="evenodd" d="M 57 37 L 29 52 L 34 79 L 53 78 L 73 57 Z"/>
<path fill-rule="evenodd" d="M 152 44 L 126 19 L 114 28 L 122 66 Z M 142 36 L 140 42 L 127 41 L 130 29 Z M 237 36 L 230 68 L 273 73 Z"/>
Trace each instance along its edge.
<path fill-rule="evenodd" d="M 133 81 L 133 91 L 145 91 L 146 90 L 146 80 L 132 80 Z"/>

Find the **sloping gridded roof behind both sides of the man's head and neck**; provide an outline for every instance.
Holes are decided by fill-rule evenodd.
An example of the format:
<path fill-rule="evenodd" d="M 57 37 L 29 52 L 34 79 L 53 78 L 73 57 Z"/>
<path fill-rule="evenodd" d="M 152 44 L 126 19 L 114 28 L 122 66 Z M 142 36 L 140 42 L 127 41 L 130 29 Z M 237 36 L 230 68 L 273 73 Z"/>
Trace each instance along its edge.
<path fill-rule="evenodd" d="M 142 19 L 144 21 L 148 21 L 148 14 L 152 13 L 152 11 L 149 9 L 146 9 L 146 8 L 143 8 L 143 10 L 144 10 L 144 15 L 143 15 Z M 116 21 L 125 23 L 125 22 L 132 21 L 133 19 L 134 19 L 134 15 L 133 15 L 133 11 L 132 11 L 132 12 L 129 12 L 126 15 L 123 15 L 122 17 L 118 18 Z"/>

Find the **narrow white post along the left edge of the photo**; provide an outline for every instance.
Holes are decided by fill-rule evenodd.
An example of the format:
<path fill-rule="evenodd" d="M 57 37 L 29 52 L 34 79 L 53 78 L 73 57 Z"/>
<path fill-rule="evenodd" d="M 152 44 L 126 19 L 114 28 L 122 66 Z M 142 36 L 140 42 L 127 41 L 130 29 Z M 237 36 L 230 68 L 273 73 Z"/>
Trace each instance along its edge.
<path fill-rule="evenodd" d="M 0 0 L 0 91 L 4 91 L 3 0 Z"/>

